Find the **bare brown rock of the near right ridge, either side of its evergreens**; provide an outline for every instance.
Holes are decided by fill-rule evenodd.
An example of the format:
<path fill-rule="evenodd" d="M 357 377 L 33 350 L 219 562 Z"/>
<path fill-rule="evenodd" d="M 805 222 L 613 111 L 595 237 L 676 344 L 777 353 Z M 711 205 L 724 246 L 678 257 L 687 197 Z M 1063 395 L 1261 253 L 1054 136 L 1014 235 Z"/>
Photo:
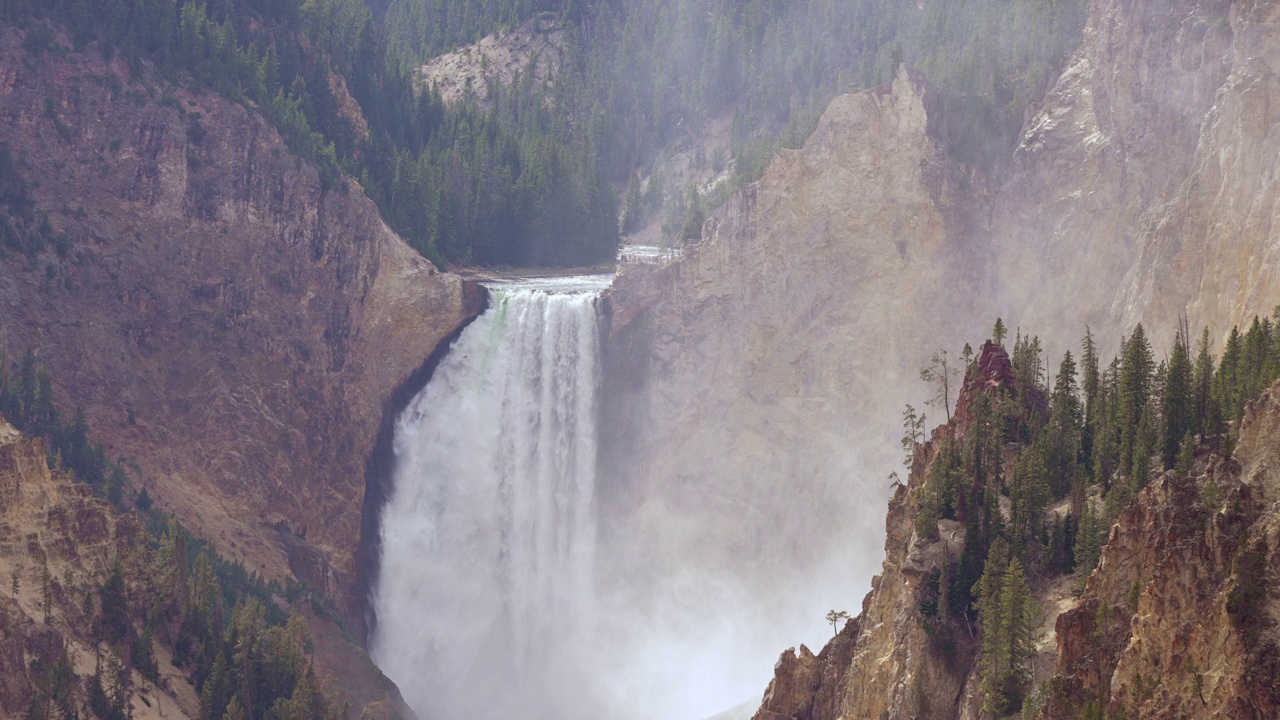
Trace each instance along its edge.
<path fill-rule="evenodd" d="M 891 500 L 883 571 L 861 614 L 817 659 L 783 653 L 756 720 L 984 716 L 972 643 L 961 637 L 950 656 L 940 652 L 919 614 L 922 580 L 943 553 L 954 562 L 964 532 L 942 520 L 940 539 L 920 538 L 913 497 L 941 434 L 963 429 L 940 428 Z M 1194 474 L 1165 473 L 1138 495 L 1079 597 L 1061 594 L 1061 583 L 1038 588 L 1053 642 L 1034 665 L 1033 716 L 1280 711 L 1277 439 L 1280 383 L 1249 405 L 1234 459 L 1208 455 Z M 819 702 L 832 696 L 842 702 Z"/>

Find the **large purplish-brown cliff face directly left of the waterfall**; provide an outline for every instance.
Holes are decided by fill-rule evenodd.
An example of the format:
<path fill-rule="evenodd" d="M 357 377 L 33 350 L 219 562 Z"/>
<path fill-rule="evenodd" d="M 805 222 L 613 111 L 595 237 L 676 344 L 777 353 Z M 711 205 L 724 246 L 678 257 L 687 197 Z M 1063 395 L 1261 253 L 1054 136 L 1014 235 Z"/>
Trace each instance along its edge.
<path fill-rule="evenodd" d="M 323 190 L 253 109 L 54 42 L 0 36 L 0 143 L 56 238 L 4 254 L 9 356 L 35 348 L 161 507 L 358 623 L 365 462 L 483 290 L 355 184 Z"/>

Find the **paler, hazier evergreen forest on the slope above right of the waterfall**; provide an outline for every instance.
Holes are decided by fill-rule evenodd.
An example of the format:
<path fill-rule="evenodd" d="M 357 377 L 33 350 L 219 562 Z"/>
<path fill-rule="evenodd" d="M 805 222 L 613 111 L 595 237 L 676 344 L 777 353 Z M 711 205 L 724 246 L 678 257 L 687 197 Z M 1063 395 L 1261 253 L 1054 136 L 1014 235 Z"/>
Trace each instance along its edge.
<path fill-rule="evenodd" d="M 572 95 L 605 120 L 603 135 L 577 138 L 595 145 L 603 178 L 626 187 L 623 228 L 666 209 L 668 234 L 687 238 L 700 225 L 690 218 L 758 178 L 780 147 L 803 145 L 836 94 L 887 82 L 901 63 L 937 88 L 931 131 L 951 155 L 998 170 L 1027 108 L 1079 44 L 1087 3 L 390 0 L 384 27 L 393 59 L 412 72 L 538 12 L 573 28 Z M 718 173 L 736 160 L 730 182 L 699 197 L 673 184 L 669 154 L 722 117 L 727 142 L 694 161 Z"/>

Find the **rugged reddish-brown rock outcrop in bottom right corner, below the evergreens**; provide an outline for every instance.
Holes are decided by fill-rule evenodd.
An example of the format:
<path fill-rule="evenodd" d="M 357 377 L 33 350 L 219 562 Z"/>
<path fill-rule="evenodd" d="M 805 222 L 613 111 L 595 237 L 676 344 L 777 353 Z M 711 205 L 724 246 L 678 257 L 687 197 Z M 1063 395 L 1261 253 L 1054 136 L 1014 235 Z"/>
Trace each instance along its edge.
<path fill-rule="evenodd" d="M 1245 413 L 1231 460 L 1166 473 L 1116 519 L 1079 602 L 1057 618 L 1041 717 L 1280 714 L 1280 384 Z"/>

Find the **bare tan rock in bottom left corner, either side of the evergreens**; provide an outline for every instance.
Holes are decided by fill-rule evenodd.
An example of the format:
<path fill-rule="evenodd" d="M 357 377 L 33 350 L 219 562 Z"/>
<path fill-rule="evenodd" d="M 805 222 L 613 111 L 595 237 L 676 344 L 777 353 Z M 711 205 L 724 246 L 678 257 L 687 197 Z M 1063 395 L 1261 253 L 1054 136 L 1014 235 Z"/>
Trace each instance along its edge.
<path fill-rule="evenodd" d="M 161 573 L 163 552 L 134 512 L 120 514 L 93 497 L 70 474 L 50 469 L 42 439 L 24 438 L 0 418 L 0 716 L 55 716 L 58 708 L 83 707 L 102 673 L 114 693 L 113 656 L 148 656 L 155 673 L 131 670 L 123 680 L 131 717 L 201 717 L 202 700 L 192 685 L 193 664 L 175 657 L 175 620 L 170 602 L 173 578 Z M 161 543 L 163 544 L 163 543 Z M 155 635 L 128 630 L 106 638 L 106 584 L 123 578 L 128 615 L 116 620 L 150 626 Z M 276 600 L 285 612 L 291 609 Z M 367 656 L 340 638 L 332 620 L 310 612 L 307 602 L 293 611 L 310 621 L 314 648 L 308 664 L 321 685 L 361 717 L 407 717 L 396 687 Z M 218 611 L 230 612 L 229 607 Z M 161 639 L 164 638 L 164 639 Z M 146 653 L 138 647 L 146 647 Z M 58 670 L 58 669 L 61 670 Z M 63 674 L 65 673 L 65 674 Z"/>

